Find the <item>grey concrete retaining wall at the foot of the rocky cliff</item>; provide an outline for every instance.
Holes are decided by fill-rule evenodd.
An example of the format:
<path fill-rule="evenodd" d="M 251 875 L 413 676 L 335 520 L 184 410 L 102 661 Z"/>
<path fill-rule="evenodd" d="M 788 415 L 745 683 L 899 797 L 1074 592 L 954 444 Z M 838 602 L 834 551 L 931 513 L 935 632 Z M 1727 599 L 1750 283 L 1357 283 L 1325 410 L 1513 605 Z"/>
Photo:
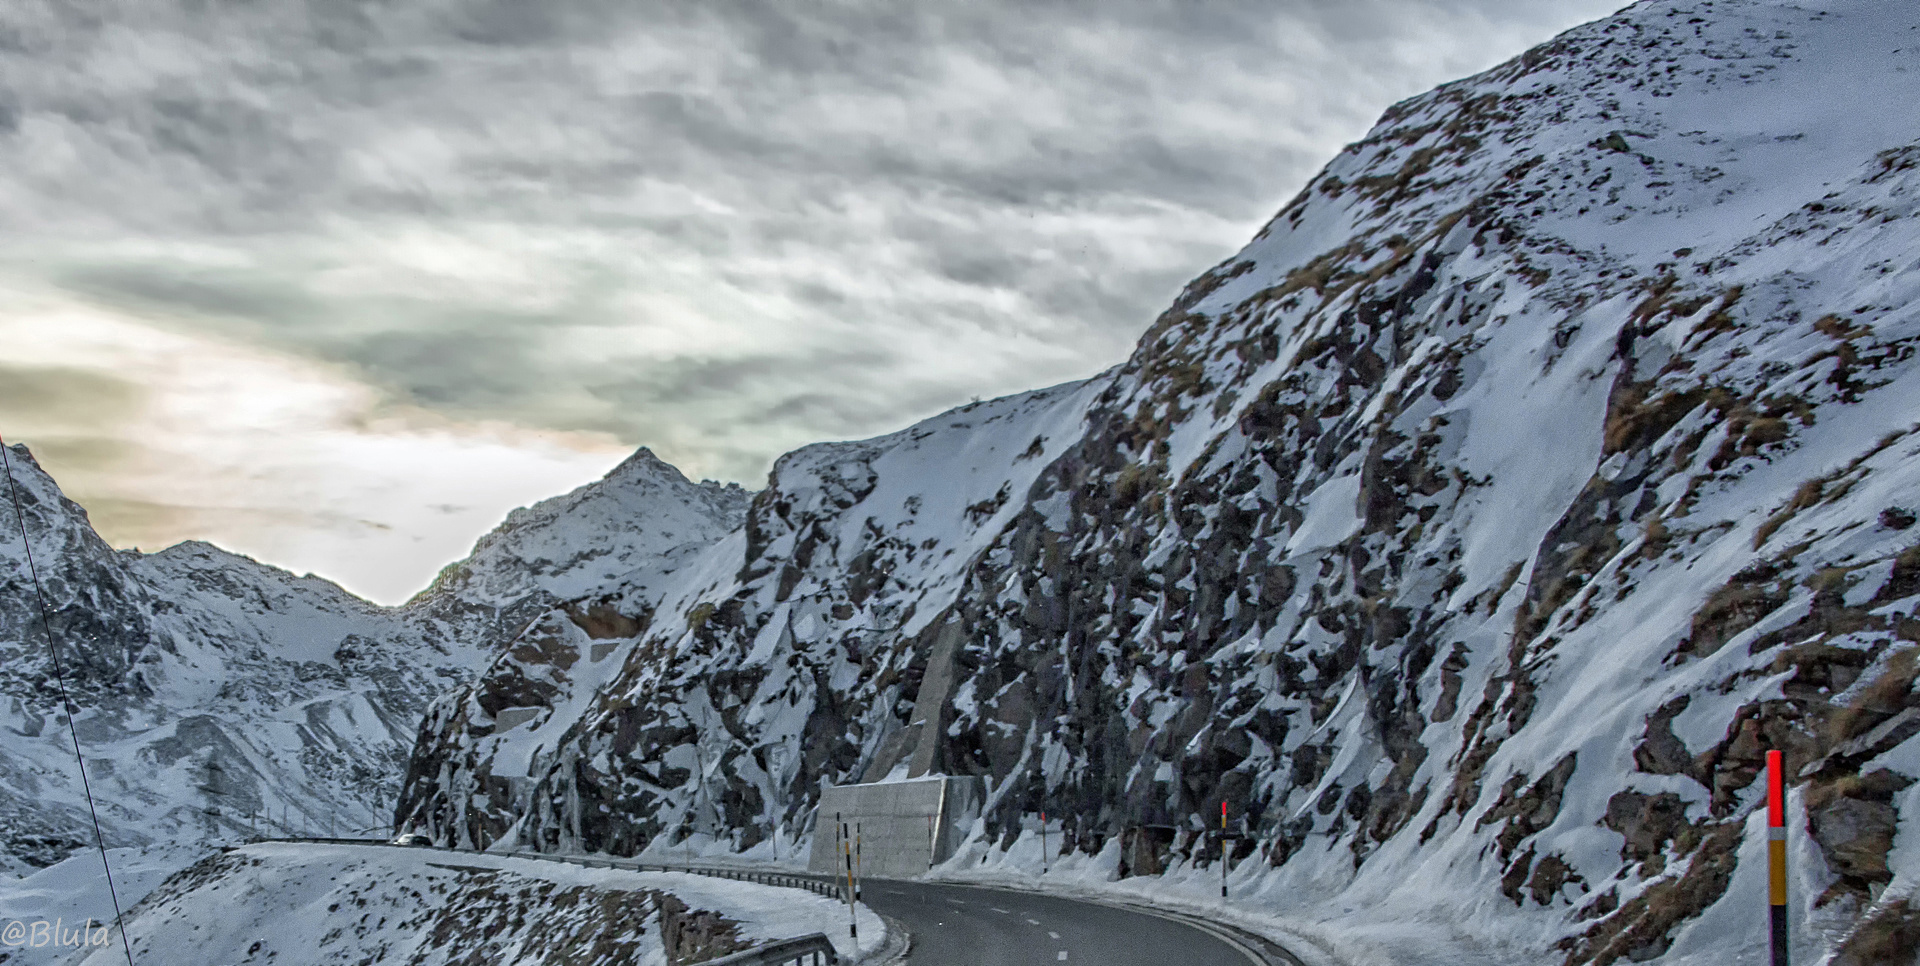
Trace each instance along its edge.
<path fill-rule="evenodd" d="M 835 785 L 820 793 L 810 872 L 841 872 L 839 824 L 858 826 L 860 872 L 918 876 L 952 857 L 968 826 L 979 818 L 985 785 L 979 778 L 916 778 L 870 785 Z M 837 820 L 835 820 L 837 816 Z"/>

